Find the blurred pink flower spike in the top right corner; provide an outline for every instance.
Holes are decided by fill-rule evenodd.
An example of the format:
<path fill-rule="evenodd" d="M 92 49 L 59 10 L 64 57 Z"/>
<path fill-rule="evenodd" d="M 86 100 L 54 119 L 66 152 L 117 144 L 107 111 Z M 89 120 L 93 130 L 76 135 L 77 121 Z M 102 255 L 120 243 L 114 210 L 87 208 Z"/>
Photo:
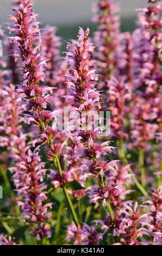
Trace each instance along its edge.
<path fill-rule="evenodd" d="M 156 3 L 157 1 L 149 3 Z M 139 9 L 139 28 L 133 33 L 134 41 L 134 84 L 139 97 L 150 104 L 149 111 L 154 113 L 154 119 L 161 125 L 161 64 L 158 56 L 158 46 L 162 42 L 159 19 L 162 5 L 149 5 Z"/>

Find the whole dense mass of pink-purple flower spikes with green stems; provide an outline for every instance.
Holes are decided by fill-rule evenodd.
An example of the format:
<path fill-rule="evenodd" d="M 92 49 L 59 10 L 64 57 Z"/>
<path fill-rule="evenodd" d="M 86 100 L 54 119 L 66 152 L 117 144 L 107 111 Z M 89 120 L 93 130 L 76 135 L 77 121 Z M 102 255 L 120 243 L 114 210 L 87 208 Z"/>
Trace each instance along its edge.
<path fill-rule="evenodd" d="M 46 26 L 41 35 L 31 1 L 13 1 L 17 8 L 9 15 L 6 43 L 10 54 L 0 62 L 0 161 L 13 175 L 13 201 L 23 225 L 38 243 L 61 241 L 65 198 L 71 222 L 66 222 L 63 243 L 162 245 L 162 6 L 147 2 L 148 8 L 139 10 L 139 28 L 130 34 L 120 33 L 117 4 L 98 0 L 94 39 L 89 28 L 79 28 L 61 60 L 57 29 Z M 55 130 L 52 121 L 64 107 L 70 109 L 70 122 L 64 120 L 65 130 Z M 100 110 L 111 112 L 109 137 L 100 136 L 104 125 L 95 127 L 89 120 L 90 115 L 101 124 Z M 0 171 L 6 182 L 5 169 Z M 57 216 L 53 197 L 61 202 Z M 85 202 L 90 205 L 84 210 Z M 0 245 L 16 244 L 2 232 Z M 25 244 L 23 235 L 20 243 Z"/>

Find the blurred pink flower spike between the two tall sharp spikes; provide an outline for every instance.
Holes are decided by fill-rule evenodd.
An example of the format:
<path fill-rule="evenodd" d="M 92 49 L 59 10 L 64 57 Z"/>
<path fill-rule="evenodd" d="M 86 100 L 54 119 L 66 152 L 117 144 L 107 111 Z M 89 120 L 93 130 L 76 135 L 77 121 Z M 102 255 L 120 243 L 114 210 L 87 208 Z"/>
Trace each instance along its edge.
<path fill-rule="evenodd" d="M 46 78 L 43 82 L 45 86 L 56 88 L 53 97 L 51 98 L 52 108 L 63 109 L 66 106 L 65 88 L 66 88 L 66 73 L 67 65 L 61 60 L 59 47 L 61 46 L 60 37 L 56 35 L 57 28 L 46 26 L 42 33 L 41 54 L 44 60 L 47 61 L 45 67 Z"/>

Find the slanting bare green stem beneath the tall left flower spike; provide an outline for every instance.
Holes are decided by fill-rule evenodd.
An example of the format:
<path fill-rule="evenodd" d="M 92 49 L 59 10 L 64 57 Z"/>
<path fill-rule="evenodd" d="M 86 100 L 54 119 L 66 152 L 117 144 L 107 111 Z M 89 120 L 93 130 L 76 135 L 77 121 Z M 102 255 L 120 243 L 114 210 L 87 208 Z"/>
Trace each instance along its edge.
<path fill-rule="evenodd" d="M 59 175 L 62 177 L 63 173 L 62 173 L 62 169 L 61 169 L 61 165 L 60 165 L 60 160 L 59 160 L 58 156 L 56 157 L 56 160 L 57 160 Z M 76 215 L 76 211 L 74 210 L 74 206 L 72 204 L 71 198 L 70 198 L 69 194 L 67 193 L 66 187 L 63 187 L 63 191 L 64 191 L 64 194 L 65 194 L 67 203 L 68 203 L 68 205 L 70 207 L 71 214 L 73 216 L 73 220 L 76 223 L 76 225 L 78 226 L 79 225 L 78 217 Z"/>

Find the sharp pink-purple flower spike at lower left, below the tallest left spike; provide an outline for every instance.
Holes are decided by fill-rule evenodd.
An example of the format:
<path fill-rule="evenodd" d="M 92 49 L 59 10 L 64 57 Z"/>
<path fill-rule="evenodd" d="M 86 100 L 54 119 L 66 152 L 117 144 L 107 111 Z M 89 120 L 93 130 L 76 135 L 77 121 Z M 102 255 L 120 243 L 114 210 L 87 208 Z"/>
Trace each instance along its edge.
<path fill-rule="evenodd" d="M 48 237 L 51 235 L 51 231 L 47 229 L 46 225 L 43 225 L 51 216 L 51 212 L 47 210 L 52 207 L 51 203 L 42 204 L 47 199 L 45 192 L 47 185 L 42 182 L 46 174 L 44 166 L 45 163 L 41 162 L 38 151 L 35 150 L 32 153 L 29 149 L 28 155 L 24 156 L 22 161 L 16 164 L 16 167 L 10 168 L 10 171 L 14 172 L 13 178 L 18 196 L 24 197 L 24 202 L 19 202 L 22 217 L 24 221 L 37 225 L 31 234 L 38 240 L 46 235 Z"/>

